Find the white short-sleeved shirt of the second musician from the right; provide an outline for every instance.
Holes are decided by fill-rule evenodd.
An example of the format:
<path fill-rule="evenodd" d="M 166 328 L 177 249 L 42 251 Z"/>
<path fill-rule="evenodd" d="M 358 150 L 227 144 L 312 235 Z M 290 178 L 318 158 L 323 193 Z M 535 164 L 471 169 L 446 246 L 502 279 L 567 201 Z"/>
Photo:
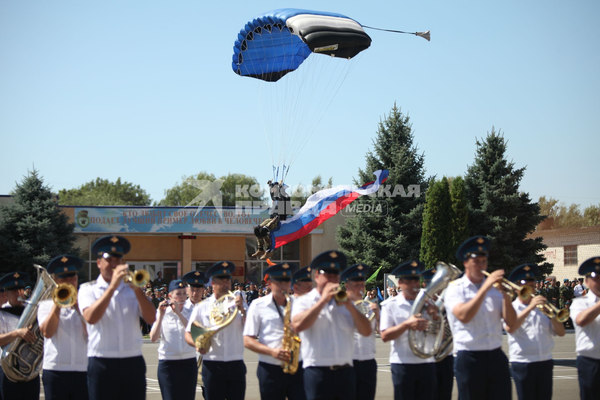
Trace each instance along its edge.
<path fill-rule="evenodd" d="M 491 289 L 490 289 L 491 290 Z M 517 299 L 512 302 L 512 308 L 517 315 L 527 308 L 527 305 Z M 523 324 L 508 333 L 508 352 L 510 362 L 538 362 L 552 359 L 552 339 L 554 329 L 552 321 L 538 307 L 527 315 Z"/>

